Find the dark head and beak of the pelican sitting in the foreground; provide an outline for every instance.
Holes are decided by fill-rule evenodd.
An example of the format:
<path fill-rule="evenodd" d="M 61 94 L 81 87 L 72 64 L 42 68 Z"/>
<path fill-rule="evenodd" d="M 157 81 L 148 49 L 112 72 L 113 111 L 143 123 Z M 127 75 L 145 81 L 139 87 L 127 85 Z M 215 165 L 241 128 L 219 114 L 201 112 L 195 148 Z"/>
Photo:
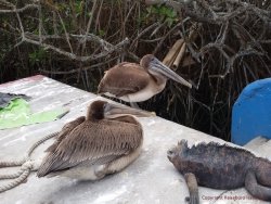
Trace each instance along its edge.
<path fill-rule="evenodd" d="M 87 120 L 100 120 L 104 118 L 116 118 L 122 115 L 134 115 L 138 117 L 155 116 L 155 113 L 143 110 L 136 110 L 124 105 L 108 103 L 98 100 L 92 102 L 87 112 Z"/>

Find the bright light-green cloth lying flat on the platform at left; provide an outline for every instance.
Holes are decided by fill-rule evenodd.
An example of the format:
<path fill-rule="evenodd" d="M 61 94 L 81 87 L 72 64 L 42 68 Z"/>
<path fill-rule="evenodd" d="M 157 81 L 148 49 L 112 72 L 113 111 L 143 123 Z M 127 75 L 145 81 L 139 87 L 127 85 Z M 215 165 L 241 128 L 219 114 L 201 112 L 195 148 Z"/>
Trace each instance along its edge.
<path fill-rule="evenodd" d="M 0 109 L 0 129 L 52 122 L 66 113 L 67 110 L 64 109 L 31 113 L 28 102 L 18 98 L 12 100 L 7 107 Z"/>

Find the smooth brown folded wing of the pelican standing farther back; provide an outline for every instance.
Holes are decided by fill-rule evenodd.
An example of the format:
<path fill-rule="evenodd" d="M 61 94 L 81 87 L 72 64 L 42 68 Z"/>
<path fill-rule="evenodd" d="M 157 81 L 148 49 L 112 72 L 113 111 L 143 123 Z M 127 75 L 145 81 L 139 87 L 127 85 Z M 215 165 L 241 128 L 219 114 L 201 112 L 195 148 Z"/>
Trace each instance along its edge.
<path fill-rule="evenodd" d="M 105 73 L 98 92 L 122 97 L 144 89 L 150 80 L 151 76 L 139 64 L 124 62 Z"/>

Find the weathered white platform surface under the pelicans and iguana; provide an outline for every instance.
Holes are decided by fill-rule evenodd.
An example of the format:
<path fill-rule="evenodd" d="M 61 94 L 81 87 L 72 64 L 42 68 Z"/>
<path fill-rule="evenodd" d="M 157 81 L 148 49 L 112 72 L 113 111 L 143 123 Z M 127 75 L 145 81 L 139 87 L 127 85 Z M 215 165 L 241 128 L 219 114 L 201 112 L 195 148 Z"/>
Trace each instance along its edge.
<path fill-rule="evenodd" d="M 14 82 L 0 85 L 1 92 L 25 93 L 33 97 L 30 105 L 34 112 L 67 107 L 70 112 L 62 119 L 0 130 L 0 161 L 21 158 L 31 144 L 46 135 L 59 131 L 62 126 L 85 115 L 86 107 L 96 95 L 57 82 L 43 76 L 35 76 Z M 203 132 L 165 120 L 160 117 L 140 118 L 144 128 L 144 144 L 141 156 L 119 174 L 108 176 L 95 182 L 78 182 L 67 178 L 37 178 L 35 173 L 26 183 L 0 193 L 1 204 L 180 204 L 189 195 L 183 177 L 175 169 L 167 158 L 167 150 L 181 139 L 190 144 L 201 141 L 223 140 Z M 269 141 L 261 143 L 264 156 L 271 150 Z M 48 141 L 40 145 L 34 157 L 43 156 L 43 150 L 50 145 Z M 257 150 L 256 150 L 257 152 Z M 259 155 L 259 154 L 258 154 Z M 11 173 L 11 168 L 0 169 L 0 174 Z M 5 181 L 0 181 L 3 184 Z M 251 197 L 244 189 L 235 191 L 218 191 L 207 188 L 199 189 L 202 203 L 267 203 Z M 235 201 L 234 201 L 235 199 Z"/>

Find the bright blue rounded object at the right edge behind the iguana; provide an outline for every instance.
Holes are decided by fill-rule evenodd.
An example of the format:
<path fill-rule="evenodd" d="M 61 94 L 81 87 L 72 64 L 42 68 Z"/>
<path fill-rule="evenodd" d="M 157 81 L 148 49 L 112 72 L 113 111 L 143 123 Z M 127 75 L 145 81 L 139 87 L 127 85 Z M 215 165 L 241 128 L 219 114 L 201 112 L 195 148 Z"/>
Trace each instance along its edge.
<path fill-rule="evenodd" d="M 246 86 L 233 105 L 232 142 L 244 145 L 258 136 L 271 139 L 271 78 Z"/>

